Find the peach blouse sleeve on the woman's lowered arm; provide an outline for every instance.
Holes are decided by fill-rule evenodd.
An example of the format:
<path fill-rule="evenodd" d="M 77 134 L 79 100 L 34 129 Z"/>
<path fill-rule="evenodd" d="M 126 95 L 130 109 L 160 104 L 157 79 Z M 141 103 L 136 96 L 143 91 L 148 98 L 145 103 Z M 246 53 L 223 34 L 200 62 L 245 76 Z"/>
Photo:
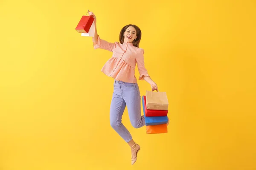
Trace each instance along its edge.
<path fill-rule="evenodd" d="M 145 68 L 145 64 L 144 64 L 144 50 L 143 50 L 143 48 L 139 48 L 138 53 L 137 53 L 137 57 L 136 57 L 136 62 L 137 62 L 138 70 L 139 70 L 139 73 L 140 73 L 139 80 L 144 80 L 143 75 L 145 77 L 147 77 L 149 75 L 148 75 L 148 71 Z"/>

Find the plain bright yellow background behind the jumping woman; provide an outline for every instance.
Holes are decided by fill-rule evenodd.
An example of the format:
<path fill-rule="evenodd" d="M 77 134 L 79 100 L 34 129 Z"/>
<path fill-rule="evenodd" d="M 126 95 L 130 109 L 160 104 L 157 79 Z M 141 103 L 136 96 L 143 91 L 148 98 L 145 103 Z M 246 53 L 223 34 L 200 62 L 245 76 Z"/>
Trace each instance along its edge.
<path fill-rule="evenodd" d="M 118 41 L 142 30 L 145 66 L 169 99 L 169 132 L 111 128 L 111 57 L 75 30 L 87 9 Z M 0 170 L 255 170 L 256 2 L 1 0 Z M 138 71 L 136 69 L 138 78 Z M 139 81 L 141 95 L 150 85 Z"/>

